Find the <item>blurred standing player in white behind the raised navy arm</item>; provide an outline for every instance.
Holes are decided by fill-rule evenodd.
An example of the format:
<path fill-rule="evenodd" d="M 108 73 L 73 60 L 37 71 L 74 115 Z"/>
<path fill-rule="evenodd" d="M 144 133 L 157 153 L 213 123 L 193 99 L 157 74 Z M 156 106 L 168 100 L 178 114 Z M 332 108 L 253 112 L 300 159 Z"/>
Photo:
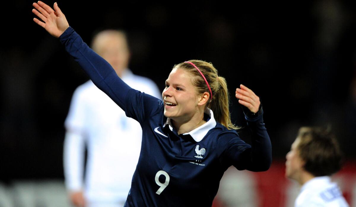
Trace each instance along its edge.
<path fill-rule="evenodd" d="M 162 98 L 153 81 L 127 69 L 130 52 L 125 33 L 102 31 L 93 38 L 91 46 L 129 86 Z M 65 126 L 64 175 L 72 203 L 89 207 L 123 206 L 140 155 L 140 124 L 127 118 L 89 80 L 75 90 Z M 88 156 L 84 184 L 85 146 Z"/>

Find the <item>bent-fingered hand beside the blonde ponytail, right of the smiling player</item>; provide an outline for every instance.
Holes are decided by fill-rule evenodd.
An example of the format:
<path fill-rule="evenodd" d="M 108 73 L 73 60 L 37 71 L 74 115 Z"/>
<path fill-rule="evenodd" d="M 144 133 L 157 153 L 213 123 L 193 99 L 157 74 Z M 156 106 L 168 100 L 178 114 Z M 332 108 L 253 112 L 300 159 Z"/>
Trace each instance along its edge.
<path fill-rule="evenodd" d="M 241 105 L 247 107 L 252 113 L 257 113 L 260 108 L 260 98 L 250 88 L 242 84 L 240 84 L 240 88 L 236 88 L 235 97 L 239 99 Z"/>

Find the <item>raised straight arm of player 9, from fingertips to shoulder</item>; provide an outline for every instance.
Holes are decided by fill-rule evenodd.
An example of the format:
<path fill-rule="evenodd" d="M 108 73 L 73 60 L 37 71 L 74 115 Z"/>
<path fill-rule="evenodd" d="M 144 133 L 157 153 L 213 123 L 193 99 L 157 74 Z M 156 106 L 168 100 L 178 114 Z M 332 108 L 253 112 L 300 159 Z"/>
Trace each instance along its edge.
<path fill-rule="evenodd" d="M 111 65 L 88 47 L 82 38 L 69 26 L 66 17 L 57 3 L 54 10 L 45 3 L 33 3 L 37 10 L 32 10 L 39 18 L 34 18 L 38 25 L 65 45 L 66 51 L 79 63 L 91 81 L 122 108 L 126 115 L 142 122 L 158 109 L 161 101 L 132 89 L 119 76 Z"/>

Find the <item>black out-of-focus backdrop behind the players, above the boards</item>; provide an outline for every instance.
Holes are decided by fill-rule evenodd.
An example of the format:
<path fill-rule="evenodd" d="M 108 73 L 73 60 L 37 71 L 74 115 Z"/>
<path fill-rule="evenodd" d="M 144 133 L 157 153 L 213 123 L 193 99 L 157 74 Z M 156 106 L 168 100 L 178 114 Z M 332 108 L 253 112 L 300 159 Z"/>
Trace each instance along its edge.
<path fill-rule="evenodd" d="M 53 5 L 55 1 L 44 1 Z M 210 61 L 227 80 L 232 118 L 241 83 L 261 97 L 273 159 L 284 161 L 297 130 L 331 126 L 346 159 L 356 157 L 356 1 L 58 1 L 90 44 L 125 29 L 130 69 L 163 90 L 174 64 Z M 59 40 L 33 22 L 32 1 L 4 2 L 0 49 L 0 181 L 63 178 L 64 119 L 88 80 Z M 246 135 L 246 136 L 245 136 Z M 248 142 L 248 133 L 241 131 Z"/>

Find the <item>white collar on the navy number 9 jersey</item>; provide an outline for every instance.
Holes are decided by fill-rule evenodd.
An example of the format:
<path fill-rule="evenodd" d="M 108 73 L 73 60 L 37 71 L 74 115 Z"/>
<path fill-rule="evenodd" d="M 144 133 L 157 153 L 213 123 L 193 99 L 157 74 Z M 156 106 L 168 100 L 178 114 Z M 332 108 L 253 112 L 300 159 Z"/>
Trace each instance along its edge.
<path fill-rule="evenodd" d="M 213 111 L 209 108 L 207 108 L 204 111 L 205 114 L 208 114 L 210 116 L 209 121 L 204 123 L 203 125 L 193 129 L 190 132 L 184 133 L 183 135 L 190 135 L 196 142 L 200 142 L 203 140 L 204 136 L 208 133 L 209 130 L 213 129 L 216 126 L 216 121 L 214 119 L 214 114 Z M 163 127 L 165 127 L 168 124 L 169 129 L 173 131 L 173 125 L 171 122 L 171 118 L 167 118 L 166 123 L 164 123 Z"/>

